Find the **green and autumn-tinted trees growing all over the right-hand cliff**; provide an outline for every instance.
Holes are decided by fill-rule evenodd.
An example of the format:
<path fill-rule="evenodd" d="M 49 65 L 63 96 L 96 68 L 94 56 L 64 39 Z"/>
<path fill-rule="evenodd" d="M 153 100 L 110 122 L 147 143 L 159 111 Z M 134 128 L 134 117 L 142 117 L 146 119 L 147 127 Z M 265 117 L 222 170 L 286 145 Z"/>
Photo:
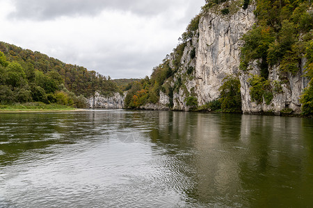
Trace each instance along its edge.
<path fill-rule="evenodd" d="M 250 3 L 256 3 L 255 17 L 257 24 L 251 31 L 243 35 L 244 45 L 241 48 L 240 69 L 249 70 L 248 64 L 252 60 L 259 61 L 261 76 L 255 76 L 250 80 L 251 97 L 254 101 L 266 103 L 271 101 L 273 93 L 281 90 L 281 83 L 275 83 L 271 88 L 268 84 L 268 69 L 274 65 L 280 66 L 280 76 L 287 81 L 287 73 L 297 73 L 300 70 L 302 58 L 306 58 L 306 76 L 310 84 L 305 89 L 300 102 L 303 104 L 303 114 L 313 114 L 313 12 L 311 1 L 305 0 L 257 0 L 257 1 L 227 1 L 206 0 L 200 15 L 195 16 L 186 28 L 186 32 L 179 38 L 179 44 L 170 55 L 167 55 L 162 64 L 154 67 L 152 75 L 132 85 L 125 105 L 128 108 L 139 108 L 145 103 L 157 103 L 159 93 L 166 93 L 170 97 L 172 107 L 173 92 L 179 87 L 184 87 L 182 79 L 176 79 L 175 85 L 168 85 L 174 78 L 179 67 L 187 42 L 197 34 L 200 17 L 205 15 L 211 8 L 223 4 L 225 8 L 220 10 L 220 15 L 228 15 L 234 12 L 232 3 L 238 3 L 243 8 L 248 8 Z M 238 5 L 238 4 L 236 4 Z M 217 7 L 216 7 L 217 8 Z M 238 8 L 238 7 L 237 7 Z M 195 58 L 195 49 L 190 53 L 191 59 Z M 186 76 L 191 76 L 193 67 L 186 69 Z M 220 98 L 198 106 L 195 95 L 189 94 L 186 104 L 194 110 L 222 110 L 224 112 L 241 111 L 241 94 L 239 78 L 228 76 L 220 87 Z"/>

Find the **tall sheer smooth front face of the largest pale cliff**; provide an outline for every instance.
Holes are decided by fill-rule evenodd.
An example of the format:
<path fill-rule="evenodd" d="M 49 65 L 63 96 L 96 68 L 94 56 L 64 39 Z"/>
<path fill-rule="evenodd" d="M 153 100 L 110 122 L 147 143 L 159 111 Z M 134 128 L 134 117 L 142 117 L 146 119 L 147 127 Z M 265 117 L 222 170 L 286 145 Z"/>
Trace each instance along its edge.
<path fill-rule="evenodd" d="M 220 95 L 223 78 L 239 73 L 242 35 L 255 24 L 255 6 L 242 8 L 230 17 L 209 13 L 200 19 L 195 82 L 199 105 Z"/>

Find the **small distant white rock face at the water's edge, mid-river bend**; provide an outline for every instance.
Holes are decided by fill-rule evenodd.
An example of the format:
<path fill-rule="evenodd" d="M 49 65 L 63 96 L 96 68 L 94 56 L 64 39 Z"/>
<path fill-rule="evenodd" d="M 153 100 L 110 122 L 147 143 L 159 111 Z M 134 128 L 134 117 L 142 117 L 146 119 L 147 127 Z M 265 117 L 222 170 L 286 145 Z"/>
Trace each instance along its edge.
<path fill-rule="evenodd" d="M 126 93 L 121 95 L 115 92 L 113 96 L 105 97 L 95 92 L 95 96 L 88 98 L 88 107 L 90 108 L 111 108 L 111 109 L 122 109 L 124 107 L 124 99 Z"/>

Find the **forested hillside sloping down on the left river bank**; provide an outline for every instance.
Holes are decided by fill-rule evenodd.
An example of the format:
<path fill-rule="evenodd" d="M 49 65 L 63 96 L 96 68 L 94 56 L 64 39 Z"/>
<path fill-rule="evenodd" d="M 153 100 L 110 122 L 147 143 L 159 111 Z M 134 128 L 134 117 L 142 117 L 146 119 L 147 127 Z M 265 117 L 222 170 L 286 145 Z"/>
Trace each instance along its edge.
<path fill-rule="evenodd" d="M 120 91 L 110 77 L 38 51 L 0 42 L 0 104 L 43 102 L 85 107 L 95 91 Z"/>

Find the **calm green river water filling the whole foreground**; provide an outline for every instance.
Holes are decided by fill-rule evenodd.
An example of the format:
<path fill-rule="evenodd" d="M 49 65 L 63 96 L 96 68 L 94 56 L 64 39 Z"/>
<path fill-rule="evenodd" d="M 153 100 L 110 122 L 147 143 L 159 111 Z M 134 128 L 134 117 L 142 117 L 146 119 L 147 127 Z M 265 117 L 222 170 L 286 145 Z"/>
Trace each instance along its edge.
<path fill-rule="evenodd" d="M 0 114 L 0 207 L 313 207 L 313 120 Z"/>

